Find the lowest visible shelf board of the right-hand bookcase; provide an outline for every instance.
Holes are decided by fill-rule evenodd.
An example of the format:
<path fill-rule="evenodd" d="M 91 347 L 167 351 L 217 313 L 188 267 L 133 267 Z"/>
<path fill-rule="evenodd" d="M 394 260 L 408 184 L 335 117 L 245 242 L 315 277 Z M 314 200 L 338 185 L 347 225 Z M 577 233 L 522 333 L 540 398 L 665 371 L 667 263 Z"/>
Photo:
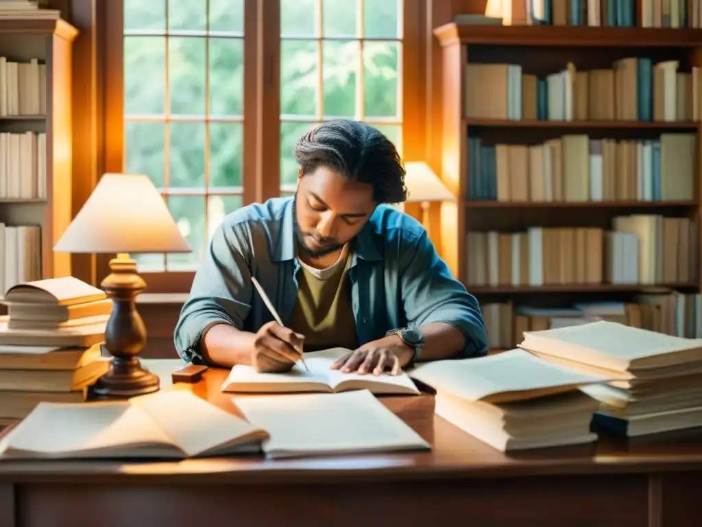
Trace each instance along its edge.
<path fill-rule="evenodd" d="M 465 285 L 470 294 L 530 294 L 530 293 L 669 293 L 677 289 L 699 289 L 697 283 L 680 284 L 553 284 L 541 286 L 510 286 L 496 287 L 484 285 Z"/>

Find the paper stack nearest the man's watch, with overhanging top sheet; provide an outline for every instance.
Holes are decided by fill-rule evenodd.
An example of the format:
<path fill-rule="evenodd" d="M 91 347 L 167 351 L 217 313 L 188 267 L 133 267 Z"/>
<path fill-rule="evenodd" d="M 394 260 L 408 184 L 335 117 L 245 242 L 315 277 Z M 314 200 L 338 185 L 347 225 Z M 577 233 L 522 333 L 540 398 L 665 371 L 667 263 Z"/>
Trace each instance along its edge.
<path fill-rule="evenodd" d="M 595 441 L 597 401 L 578 388 L 609 380 L 519 349 L 425 363 L 409 375 L 437 391 L 437 415 L 502 451 Z"/>

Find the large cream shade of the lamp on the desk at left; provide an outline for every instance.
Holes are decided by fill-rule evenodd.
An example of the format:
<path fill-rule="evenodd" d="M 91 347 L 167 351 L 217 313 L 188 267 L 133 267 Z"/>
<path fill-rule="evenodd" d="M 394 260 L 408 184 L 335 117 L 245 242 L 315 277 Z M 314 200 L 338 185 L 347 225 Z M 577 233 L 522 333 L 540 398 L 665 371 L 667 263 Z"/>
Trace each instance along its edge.
<path fill-rule="evenodd" d="M 192 252 L 154 183 L 105 174 L 55 245 L 56 252 Z"/>

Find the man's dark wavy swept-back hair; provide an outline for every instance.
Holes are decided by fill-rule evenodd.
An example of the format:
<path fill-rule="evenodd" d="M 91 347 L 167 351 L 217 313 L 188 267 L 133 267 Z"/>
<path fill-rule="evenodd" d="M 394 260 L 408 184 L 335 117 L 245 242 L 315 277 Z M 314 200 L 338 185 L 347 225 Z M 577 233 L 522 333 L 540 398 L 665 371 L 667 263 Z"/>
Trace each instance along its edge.
<path fill-rule="evenodd" d="M 300 137 L 295 159 L 303 175 L 327 167 L 350 181 L 369 183 L 376 203 L 407 199 L 402 159 L 392 141 L 370 124 L 349 119 L 320 124 Z"/>

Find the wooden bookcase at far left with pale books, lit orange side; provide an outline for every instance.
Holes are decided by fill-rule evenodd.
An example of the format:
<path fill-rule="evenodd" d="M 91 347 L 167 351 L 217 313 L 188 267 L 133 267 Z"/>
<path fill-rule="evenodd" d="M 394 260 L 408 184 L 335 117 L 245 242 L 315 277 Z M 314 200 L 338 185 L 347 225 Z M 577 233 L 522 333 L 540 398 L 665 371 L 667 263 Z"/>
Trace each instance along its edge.
<path fill-rule="evenodd" d="M 76 36 L 77 30 L 60 19 L 0 20 L 0 78 L 6 81 L 0 93 L 0 295 L 9 287 L 8 278 L 71 273 L 70 255 L 54 253 L 53 246 L 72 214 L 71 69 Z M 24 230 L 9 233 L 13 227 Z M 8 266 L 15 266 L 9 275 Z"/>

